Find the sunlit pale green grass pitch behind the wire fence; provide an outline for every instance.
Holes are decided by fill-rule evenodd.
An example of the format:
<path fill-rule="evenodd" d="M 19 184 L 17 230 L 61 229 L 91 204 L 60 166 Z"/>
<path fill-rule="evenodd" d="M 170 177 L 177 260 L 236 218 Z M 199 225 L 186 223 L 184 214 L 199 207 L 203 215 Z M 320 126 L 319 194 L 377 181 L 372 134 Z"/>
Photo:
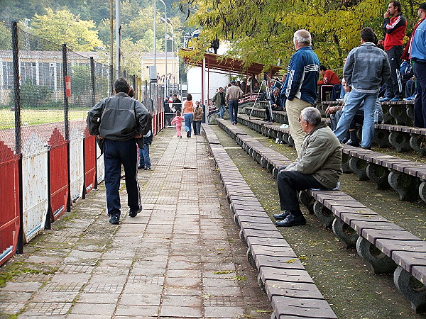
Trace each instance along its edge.
<path fill-rule="evenodd" d="M 86 118 L 87 111 L 89 110 L 69 110 L 68 118 L 70 121 Z M 38 125 L 45 123 L 55 123 L 64 121 L 64 111 L 58 109 L 51 110 L 35 110 L 23 109 L 21 110 L 21 125 Z M 15 127 L 15 112 L 10 108 L 0 108 L 0 130 Z"/>

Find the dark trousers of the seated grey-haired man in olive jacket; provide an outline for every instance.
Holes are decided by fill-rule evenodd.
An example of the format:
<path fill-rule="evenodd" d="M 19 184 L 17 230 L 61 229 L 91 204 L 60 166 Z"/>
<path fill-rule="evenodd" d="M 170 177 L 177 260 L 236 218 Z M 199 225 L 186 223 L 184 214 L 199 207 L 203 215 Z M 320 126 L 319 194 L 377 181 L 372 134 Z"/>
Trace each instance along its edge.
<path fill-rule="evenodd" d="M 277 176 L 281 211 L 290 211 L 293 216 L 302 216 L 297 191 L 305 189 L 324 189 L 312 175 L 281 169 Z"/>

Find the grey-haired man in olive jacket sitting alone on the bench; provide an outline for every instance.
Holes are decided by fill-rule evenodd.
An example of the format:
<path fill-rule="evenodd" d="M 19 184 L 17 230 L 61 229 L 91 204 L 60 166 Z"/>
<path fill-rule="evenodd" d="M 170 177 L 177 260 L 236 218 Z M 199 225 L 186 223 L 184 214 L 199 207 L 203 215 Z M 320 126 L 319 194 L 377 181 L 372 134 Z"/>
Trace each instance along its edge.
<path fill-rule="evenodd" d="M 307 107 L 300 113 L 300 127 L 307 133 L 295 162 L 278 172 L 277 184 L 283 213 L 275 214 L 278 226 L 305 225 L 297 191 L 334 189 L 342 175 L 342 145 L 327 124 L 321 121 L 317 108 Z"/>

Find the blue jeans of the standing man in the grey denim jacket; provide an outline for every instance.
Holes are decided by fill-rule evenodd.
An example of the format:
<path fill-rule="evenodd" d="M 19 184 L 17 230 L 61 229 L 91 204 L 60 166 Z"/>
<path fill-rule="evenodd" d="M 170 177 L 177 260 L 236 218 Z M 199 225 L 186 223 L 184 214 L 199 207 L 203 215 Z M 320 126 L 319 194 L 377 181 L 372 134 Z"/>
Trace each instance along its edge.
<path fill-rule="evenodd" d="M 376 109 L 378 91 L 376 93 L 361 93 L 352 90 L 348 94 L 346 105 L 343 108 L 342 116 L 339 119 L 339 123 L 337 123 L 334 134 L 339 141 L 344 139 L 346 130 L 348 130 L 356 111 L 361 106 L 361 102 L 364 101 L 364 125 L 362 126 L 361 147 L 370 147 L 374 140 L 374 111 Z"/>

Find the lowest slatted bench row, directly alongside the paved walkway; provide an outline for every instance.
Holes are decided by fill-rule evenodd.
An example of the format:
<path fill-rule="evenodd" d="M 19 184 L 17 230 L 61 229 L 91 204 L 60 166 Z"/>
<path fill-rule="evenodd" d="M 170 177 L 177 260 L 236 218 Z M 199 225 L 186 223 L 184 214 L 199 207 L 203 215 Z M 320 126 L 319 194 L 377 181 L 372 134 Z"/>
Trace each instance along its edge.
<path fill-rule="evenodd" d="M 271 318 L 337 318 L 224 147 L 218 143 L 212 129 L 203 124 L 202 130 L 226 189 L 234 220 L 241 228 L 241 240 L 249 247 L 249 262 L 258 270 L 259 285 L 271 301 L 274 310 Z M 231 125 L 229 132 L 242 135 Z"/>

